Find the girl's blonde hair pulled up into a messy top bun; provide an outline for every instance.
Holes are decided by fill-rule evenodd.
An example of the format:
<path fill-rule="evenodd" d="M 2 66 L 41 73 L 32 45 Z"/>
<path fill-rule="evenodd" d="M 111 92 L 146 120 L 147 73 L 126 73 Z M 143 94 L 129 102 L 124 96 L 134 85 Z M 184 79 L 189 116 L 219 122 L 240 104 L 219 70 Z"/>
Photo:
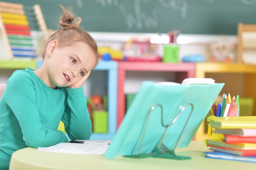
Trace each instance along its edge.
<path fill-rule="evenodd" d="M 98 46 L 95 40 L 91 37 L 89 33 L 79 28 L 79 24 L 81 23 L 81 18 L 76 17 L 72 13 L 72 9 L 65 9 L 63 5 L 60 5 L 63 10 L 63 15 L 61 15 L 59 24 L 62 26 L 61 30 L 55 31 L 47 40 L 45 45 L 43 46 L 42 56 L 43 59 L 46 55 L 46 49 L 48 44 L 56 40 L 58 42 L 58 46 L 69 46 L 74 44 L 75 42 L 83 42 L 89 46 L 89 48 L 94 52 L 96 57 L 96 64 L 99 61 L 99 53 Z M 74 21 L 74 22 L 73 22 Z"/>

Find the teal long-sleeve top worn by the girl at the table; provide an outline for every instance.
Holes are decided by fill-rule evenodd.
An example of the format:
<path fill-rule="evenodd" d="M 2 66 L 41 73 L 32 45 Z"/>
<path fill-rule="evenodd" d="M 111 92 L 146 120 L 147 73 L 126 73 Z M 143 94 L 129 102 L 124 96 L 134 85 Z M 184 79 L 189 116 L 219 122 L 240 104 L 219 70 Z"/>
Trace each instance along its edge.
<path fill-rule="evenodd" d="M 61 120 L 72 140 L 92 134 L 83 87 L 52 89 L 33 71 L 13 72 L 0 99 L 0 170 L 9 168 L 16 150 L 68 142 L 57 130 Z"/>

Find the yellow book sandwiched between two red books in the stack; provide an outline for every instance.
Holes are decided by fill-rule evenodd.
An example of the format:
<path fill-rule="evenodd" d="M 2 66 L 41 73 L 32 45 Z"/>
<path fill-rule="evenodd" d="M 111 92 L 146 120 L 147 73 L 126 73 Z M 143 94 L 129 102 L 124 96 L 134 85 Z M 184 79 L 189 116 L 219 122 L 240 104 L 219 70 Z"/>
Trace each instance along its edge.
<path fill-rule="evenodd" d="M 205 139 L 204 144 L 210 145 L 210 146 L 220 146 L 220 147 L 232 148 L 232 149 L 256 150 L 256 144 L 249 144 L 249 143 L 226 144 L 221 139 Z"/>

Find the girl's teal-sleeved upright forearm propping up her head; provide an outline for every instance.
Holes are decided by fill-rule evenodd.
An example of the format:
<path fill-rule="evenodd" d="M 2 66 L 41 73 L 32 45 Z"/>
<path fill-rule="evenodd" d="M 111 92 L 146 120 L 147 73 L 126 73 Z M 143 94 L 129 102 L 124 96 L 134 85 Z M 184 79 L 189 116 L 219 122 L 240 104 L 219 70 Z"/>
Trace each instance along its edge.
<path fill-rule="evenodd" d="M 90 139 L 92 121 L 83 87 L 67 88 L 67 106 L 62 121 L 71 140 Z"/>

